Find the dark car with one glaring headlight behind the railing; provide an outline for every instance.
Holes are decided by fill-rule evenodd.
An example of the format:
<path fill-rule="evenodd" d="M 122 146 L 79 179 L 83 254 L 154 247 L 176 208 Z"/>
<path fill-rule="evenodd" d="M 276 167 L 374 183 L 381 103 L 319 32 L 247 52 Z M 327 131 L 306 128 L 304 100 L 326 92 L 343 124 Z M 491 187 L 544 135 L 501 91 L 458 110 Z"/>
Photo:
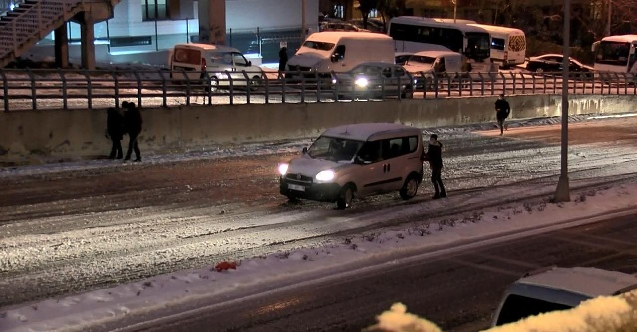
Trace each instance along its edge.
<path fill-rule="evenodd" d="M 339 99 L 380 99 L 411 98 L 415 82 L 402 66 L 365 62 L 347 73 L 334 73 L 332 83 Z"/>

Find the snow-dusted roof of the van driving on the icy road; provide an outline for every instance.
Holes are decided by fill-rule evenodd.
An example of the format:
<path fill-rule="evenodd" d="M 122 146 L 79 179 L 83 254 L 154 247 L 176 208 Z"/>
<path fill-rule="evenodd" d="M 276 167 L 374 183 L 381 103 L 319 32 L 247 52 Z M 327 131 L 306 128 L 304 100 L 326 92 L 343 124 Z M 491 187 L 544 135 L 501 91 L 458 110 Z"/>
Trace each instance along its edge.
<path fill-rule="evenodd" d="M 386 134 L 409 134 L 417 135 L 421 131 L 415 127 L 403 126 L 402 124 L 390 123 L 368 123 L 368 124 L 347 124 L 327 129 L 323 136 L 347 138 L 348 140 L 367 141 L 375 136 Z"/>

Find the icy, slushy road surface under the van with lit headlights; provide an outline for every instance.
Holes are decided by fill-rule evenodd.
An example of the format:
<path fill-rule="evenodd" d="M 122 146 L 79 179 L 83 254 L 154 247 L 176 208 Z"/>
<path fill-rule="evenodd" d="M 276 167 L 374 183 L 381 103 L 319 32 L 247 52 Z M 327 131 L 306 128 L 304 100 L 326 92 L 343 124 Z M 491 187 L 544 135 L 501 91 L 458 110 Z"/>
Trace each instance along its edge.
<path fill-rule="evenodd" d="M 637 174 L 637 119 L 571 127 L 573 186 Z M 323 243 L 380 226 L 547 193 L 559 168 L 559 126 L 438 131 L 450 198 L 385 195 L 289 205 L 276 164 L 301 145 L 122 164 L 99 161 L 0 171 L 0 305 Z M 269 153 L 268 153 L 269 151 Z M 254 156 L 249 156 L 254 152 Z M 231 153 L 232 154 L 232 153 Z M 151 161 L 153 159 L 150 159 Z M 157 159 L 159 160 L 159 159 Z"/>

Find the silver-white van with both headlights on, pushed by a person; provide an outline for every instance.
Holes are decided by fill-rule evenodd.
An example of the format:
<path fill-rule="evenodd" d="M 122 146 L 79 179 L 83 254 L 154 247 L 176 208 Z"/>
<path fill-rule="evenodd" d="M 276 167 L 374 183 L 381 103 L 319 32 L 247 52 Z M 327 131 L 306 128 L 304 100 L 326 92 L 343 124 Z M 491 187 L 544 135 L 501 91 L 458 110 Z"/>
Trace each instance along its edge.
<path fill-rule="evenodd" d="M 416 196 L 422 182 L 422 131 L 399 124 L 350 124 L 327 129 L 301 157 L 280 164 L 280 192 L 290 200 L 336 202 L 399 191 Z"/>

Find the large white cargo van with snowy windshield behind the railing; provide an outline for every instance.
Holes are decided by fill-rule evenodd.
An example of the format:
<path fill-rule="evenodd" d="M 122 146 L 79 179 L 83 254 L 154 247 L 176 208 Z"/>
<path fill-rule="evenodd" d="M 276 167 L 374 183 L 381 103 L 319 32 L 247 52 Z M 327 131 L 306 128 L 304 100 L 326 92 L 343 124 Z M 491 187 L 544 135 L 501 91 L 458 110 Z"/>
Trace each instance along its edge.
<path fill-rule="evenodd" d="M 341 73 L 362 62 L 394 63 L 394 40 L 373 32 L 316 32 L 287 62 L 289 71 Z"/>

